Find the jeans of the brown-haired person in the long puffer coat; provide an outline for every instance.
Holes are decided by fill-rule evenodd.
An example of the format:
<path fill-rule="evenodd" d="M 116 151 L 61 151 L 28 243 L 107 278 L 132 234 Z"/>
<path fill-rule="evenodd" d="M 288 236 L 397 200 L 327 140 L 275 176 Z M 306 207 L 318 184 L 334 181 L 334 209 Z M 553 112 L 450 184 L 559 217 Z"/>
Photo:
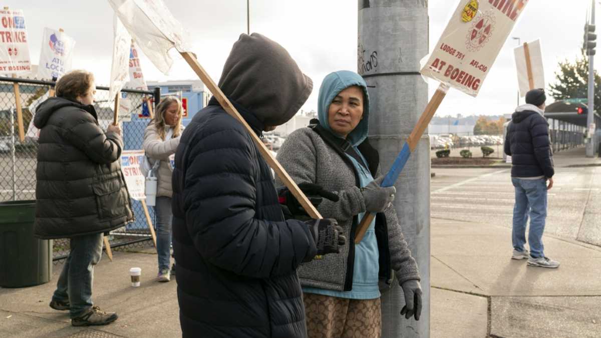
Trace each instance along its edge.
<path fill-rule="evenodd" d="M 94 265 L 102 256 L 102 233 L 73 237 L 70 247 L 52 300 L 69 301 L 69 315 L 76 318 L 90 312 L 93 306 Z"/>

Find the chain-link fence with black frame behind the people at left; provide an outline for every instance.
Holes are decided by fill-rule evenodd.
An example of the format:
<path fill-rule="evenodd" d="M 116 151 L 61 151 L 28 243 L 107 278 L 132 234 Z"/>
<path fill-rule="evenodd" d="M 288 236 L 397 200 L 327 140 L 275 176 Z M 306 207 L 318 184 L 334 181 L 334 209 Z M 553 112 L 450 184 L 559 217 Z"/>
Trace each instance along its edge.
<path fill-rule="evenodd" d="M 32 128 L 32 112 L 38 103 L 50 95 L 53 85 L 54 82 L 49 81 L 0 77 L 0 201 L 35 200 L 38 146 L 37 131 Z M 142 149 L 144 129 L 150 121 L 148 116 L 142 114 L 142 103 L 150 97 L 158 97 L 159 94 L 141 90 L 123 90 L 121 93 L 132 103 L 132 121 L 122 124 L 124 150 Z M 17 114 L 17 100 L 20 102 L 21 114 Z M 106 129 L 112 123 L 114 105 L 114 99 L 109 97 L 107 87 L 96 88 L 94 105 L 100 128 Z M 22 124 L 19 120 L 22 120 Z M 23 141 L 20 138 L 20 128 L 25 136 Z M 132 204 L 136 221 L 112 231 L 109 235 L 111 247 L 117 250 L 152 245 L 142 205 L 135 200 Z M 148 209 L 154 224 L 153 207 Z M 69 239 L 55 239 L 55 263 L 68 255 Z"/>

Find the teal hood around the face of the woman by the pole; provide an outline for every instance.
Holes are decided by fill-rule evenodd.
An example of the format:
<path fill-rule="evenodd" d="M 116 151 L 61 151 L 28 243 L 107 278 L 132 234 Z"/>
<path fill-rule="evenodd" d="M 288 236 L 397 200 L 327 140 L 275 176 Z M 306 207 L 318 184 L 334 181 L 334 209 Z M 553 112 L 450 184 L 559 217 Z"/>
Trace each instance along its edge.
<path fill-rule="evenodd" d="M 329 73 L 328 76 L 323 79 L 322 87 L 319 88 L 317 117 L 319 118 L 319 124 L 324 129 L 331 132 L 332 135 L 336 135 L 332 132 L 328 123 L 328 108 L 338 93 L 353 85 L 357 85 L 363 89 L 365 102 L 363 104 L 363 119 L 359 121 L 356 128 L 350 132 L 347 141 L 353 146 L 359 146 L 359 144 L 367 138 L 370 116 L 370 96 L 367 93 L 367 84 L 361 75 L 350 72 L 350 70 L 339 70 L 338 72 Z"/>

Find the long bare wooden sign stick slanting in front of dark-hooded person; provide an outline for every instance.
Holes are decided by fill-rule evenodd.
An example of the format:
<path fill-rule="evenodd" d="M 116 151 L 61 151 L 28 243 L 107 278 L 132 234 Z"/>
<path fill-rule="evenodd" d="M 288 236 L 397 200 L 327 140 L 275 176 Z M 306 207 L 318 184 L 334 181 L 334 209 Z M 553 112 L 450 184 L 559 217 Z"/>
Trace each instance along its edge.
<path fill-rule="evenodd" d="M 244 118 L 242 118 L 242 116 L 236 110 L 236 108 L 234 108 L 234 105 L 231 104 L 230 100 L 228 100 L 228 98 L 225 97 L 225 94 L 215 84 L 215 82 L 213 82 L 209 74 L 207 74 L 207 72 L 203 69 L 200 63 L 198 63 L 196 57 L 191 52 L 180 52 L 180 54 L 182 54 L 184 60 L 188 62 L 190 67 L 192 67 L 192 70 L 194 70 L 198 77 L 204 82 L 204 84 L 207 86 L 207 89 L 209 89 L 209 91 L 213 93 L 213 96 L 215 96 L 215 98 L 219 101 L 219 104 L 221 104 L 225 111 L 232 117 L 236 118 L 236 120 L 242 123 L 244 128 L 246 128 L 246 131 L 248 131 L 248 134 L 251 135 L 252 140 L 255 142 L 255 145 L 261 153 L 261 156 L 263 156 L 267 164 L 269 164 L 269 166 L 273 168 L 273 171 L 275 171 L 275 173 L 282 180 L 282 182 L 284 182 L 284 185 L 287 186 L 287 188 L 290 190 L 290 192 L 292 192 L 294 197 L 296 197 L 296 200 L 299 201 L 299 203 L 301 203 L 302 207 L 307 211 L 307 214 L 309 214 L 311 218 L 322 218 L 322 215 L 320 215 L 317 209 L 313 206 L 313 204 L 311 204 L 307 196 L 303 194 L 301 189 L 299 189 L 296 183 L 294 183 L 290 176 L 288 176 L 288 173 L 286 173 L 286 171 L 279 164 L 279 162 L 276 161 L 275 158 L 273 158 L 269 150 L 267 150 L 267 147 L 263 144 L 263 142 L 261 142 L 261 139 L 257 136 L 257 134 L 255 134 L 254 131 L 252 131 L 248 123 L 246 123 L 246 121 L 244 120 Z"/>

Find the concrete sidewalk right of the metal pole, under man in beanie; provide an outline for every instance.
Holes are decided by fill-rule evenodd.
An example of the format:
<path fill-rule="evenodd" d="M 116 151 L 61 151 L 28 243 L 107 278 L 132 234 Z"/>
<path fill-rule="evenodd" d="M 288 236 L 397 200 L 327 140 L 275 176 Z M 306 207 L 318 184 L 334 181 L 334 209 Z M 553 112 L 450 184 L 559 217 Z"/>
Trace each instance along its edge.
<path fill-rule="evenodd" d="M 601 248 L 545 236 L 557 269 L 511 260 L 511 229 L 432 219 L 432 337 L 601 336 Z"/>

